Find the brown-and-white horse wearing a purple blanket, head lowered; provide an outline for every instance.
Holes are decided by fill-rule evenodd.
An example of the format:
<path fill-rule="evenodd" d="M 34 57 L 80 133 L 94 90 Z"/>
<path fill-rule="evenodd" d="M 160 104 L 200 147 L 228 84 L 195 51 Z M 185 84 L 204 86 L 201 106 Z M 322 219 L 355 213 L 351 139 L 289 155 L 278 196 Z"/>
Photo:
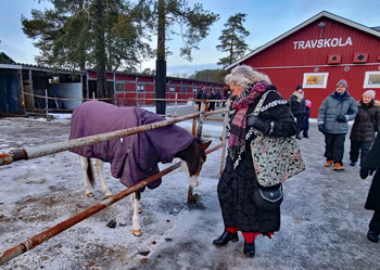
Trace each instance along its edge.
<path fill-rule="evenodd" d="M 143 108 L 117 107 L 100 101 L 89 101 L 74 110 L 69 140 L 162 120 L 165 118 Z M 190 187 L 198 187 L 198 177 L 206 160 L 205 150 L 210 144 L 211 141 L 200 141 L 185 129 L 172 125 L 121 139 L 76 147 L 71 152 L 79 155 L 86 195 L 93 196 L 91 191 L 91 187 L 94 185 L 92 158 L 96 159 L 96 169 L 104 195 L 112 196 L 104 180 L 104 162 L 111 164 L 111 173 L 114 178 L 118 178 L 124 185 L 131 187 L 157 173 L 160 162 L 163 164 L 172 163 L 174 157 L 178 157 L 181 160 L 181 169 L 189 179 Z M 160 178 L 148 184 L 148 188 L 155 189 L 161 184 L 161 181 Z M 131 194 L 132 234 L 136 236 L 141 235 L 139 214 L 142 210 L 139 201 L 143 190 L 144 188 Z"/>

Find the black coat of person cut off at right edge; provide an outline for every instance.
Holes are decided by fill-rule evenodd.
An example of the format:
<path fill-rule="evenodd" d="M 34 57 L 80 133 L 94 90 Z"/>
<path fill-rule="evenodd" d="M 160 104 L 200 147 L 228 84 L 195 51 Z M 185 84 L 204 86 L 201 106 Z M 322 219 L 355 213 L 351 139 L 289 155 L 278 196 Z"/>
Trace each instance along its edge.
<path fill-rule="evenodd" d="M 380 211 L 380 136 L 377 137 L 375 143 L 369 151 L 363 168 L 376 169 L 372 183 L 369 188 L 365 208 L 368 210 Z"/>

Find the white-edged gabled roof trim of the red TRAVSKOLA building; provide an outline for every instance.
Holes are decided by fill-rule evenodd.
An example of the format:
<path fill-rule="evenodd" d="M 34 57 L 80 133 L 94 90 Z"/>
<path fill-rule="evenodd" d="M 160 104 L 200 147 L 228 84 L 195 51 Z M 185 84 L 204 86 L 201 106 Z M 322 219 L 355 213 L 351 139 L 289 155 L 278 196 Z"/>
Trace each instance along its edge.
<path fill-rule="evenodd" d="M 303 27 L 314 23 L 315 21 L 319 20 L 320 17 L 328 17 L 328 18 L 331 18 L 333 21 L 337 21 L 337 22 L 340 22 L 342 24 L 345 24 L 345 25 L 349 25 L 351 27 L 354 27 L 358 30 L 362 30 L 362 31 L 365 31 L 365 33 L 368 33 L 370 35 L 373 35 L 376 37 L 380 37 L 380 27 L 367 27 L 365 25 L 362 25 L 362 24 L 358 24 L 358 23 L 355 23 L 353 21 L 350 21 L 347 18 L 344 18 L 344 17 L 341 17 L 341 16 L 338 16 L 338 15 L 334 15 L 330 12 L 327 12 L 327 11 L 321 11 L 319 12 L 318 14 L 316 14 L 315 16 L 311 17 L 309 20 L 305 21 L 304 23 L 302 24 L 299 24 L 297 26 L 295 26 L 294 28 L 290 29 L 289 31 L 282 34 L 281 36 L 270 40 L 269 42 L 263 44 L 262 47 L 258 47 L 257 49 L 253 50 L 251 53 L 244 55 L 243 57 L 241 57 L 240 60 L 236 61 L 235 63 L 230 64 L 229 66 L 226 67 L 226 69 L 231 69 L 232 67 L 235 67 L 236 65 L 239 65 L 241 62 L 252 57 L 253 55 L 259 53 L 261 51 L 265 50 L 266 48 L 277 43 L 278 41 L 284 39 L 286 37 L 292 35 L 293 33 L 302 29 Z"/>

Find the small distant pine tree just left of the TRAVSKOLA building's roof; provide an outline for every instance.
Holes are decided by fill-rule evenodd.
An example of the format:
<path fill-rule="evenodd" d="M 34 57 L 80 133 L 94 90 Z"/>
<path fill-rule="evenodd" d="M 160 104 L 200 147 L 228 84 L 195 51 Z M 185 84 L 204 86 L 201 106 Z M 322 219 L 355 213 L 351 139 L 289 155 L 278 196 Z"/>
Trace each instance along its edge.
<path fill-rule="evenodd" d="M 216 46 L 216 49 L 221 52 L 226 52 L 228 55 L 221 57 L 218 61 L 218 65 L 228 66 L 236 62 L 239 57 L 243 56 L 249 50 L 249 46 L 244 42 L 244 38 L 250 35 L 243 27 L 246 14 L 237 13 L 230 16 L 227 23 L 224 25 L 226 29 L 221 31 L 218 40 L 220 44 Z"/>

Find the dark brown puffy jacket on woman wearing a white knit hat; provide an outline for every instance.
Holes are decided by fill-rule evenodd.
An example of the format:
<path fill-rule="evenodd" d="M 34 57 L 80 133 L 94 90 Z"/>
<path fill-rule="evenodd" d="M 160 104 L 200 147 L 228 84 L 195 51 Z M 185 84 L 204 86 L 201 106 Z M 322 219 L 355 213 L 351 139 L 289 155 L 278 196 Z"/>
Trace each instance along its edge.
<path fill-rule="evenodd" d="M 351 140 L 359 142 L 371 142 L 375 132 L 380 130 L 380 101 L 369 104 L 358 102 L 358 113 L 351 129 Z"/>

